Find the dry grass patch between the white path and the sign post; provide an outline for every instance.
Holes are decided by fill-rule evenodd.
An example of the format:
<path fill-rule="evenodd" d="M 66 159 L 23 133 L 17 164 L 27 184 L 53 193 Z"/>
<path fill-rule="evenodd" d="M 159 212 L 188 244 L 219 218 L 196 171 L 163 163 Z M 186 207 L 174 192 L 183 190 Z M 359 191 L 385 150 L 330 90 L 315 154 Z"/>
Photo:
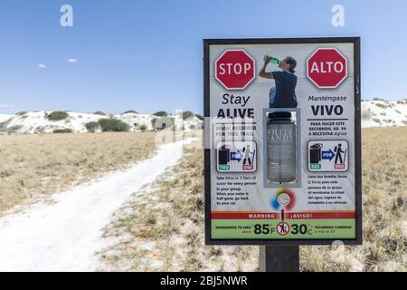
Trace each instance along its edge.
<path fill-rule="evenodd" d="M 196 144 L 195 144 L 196 145 Z M 257 247 L 204 246 L 203 150 L 185 149 L 152 191 L 138 192 L 106 228 L 100 253 L 115 271 L 255 271 Z"/>

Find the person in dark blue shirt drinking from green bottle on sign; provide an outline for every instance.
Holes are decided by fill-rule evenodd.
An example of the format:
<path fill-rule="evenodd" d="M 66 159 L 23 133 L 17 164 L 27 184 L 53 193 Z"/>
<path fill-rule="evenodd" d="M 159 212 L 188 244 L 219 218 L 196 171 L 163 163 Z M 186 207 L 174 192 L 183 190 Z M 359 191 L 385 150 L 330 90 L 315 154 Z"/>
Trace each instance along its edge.
<path fill-rule="evenodd" d="M 267 73 L 266 66 L 270 62 L 278 64 L 282 71 Z M 290 56 L 287 56 L 282 61 L 269 55 L 264 56 L 264 64 L 260 70 L 259 76 L 276 82 L 276 86 L 271 87 L 269 93 L 270 108 L 297 108 L 297 76 L 294 74 L 294 68 L 296 66 L 296 60 Z"/>

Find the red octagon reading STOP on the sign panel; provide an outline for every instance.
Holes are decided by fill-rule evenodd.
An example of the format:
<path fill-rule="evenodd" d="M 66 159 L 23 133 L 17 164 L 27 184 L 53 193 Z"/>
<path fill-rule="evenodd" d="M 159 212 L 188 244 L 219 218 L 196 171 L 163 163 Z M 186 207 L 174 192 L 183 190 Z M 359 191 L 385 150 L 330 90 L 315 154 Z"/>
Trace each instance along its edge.
<path fill-rule="evenodd" d="M 215 78 L 227 90 L 243 90 L 254 80 L 254 60 L 243 50 L 226 50 L 215 62 Z"/>

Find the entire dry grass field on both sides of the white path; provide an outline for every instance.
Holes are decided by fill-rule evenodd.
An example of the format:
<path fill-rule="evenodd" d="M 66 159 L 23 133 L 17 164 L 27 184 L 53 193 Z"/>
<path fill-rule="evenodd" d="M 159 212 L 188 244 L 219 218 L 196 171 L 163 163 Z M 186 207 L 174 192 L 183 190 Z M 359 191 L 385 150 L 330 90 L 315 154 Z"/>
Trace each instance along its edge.
<path fill-rule="evenodd" d="M 5 210 L 125 168 L 155 149 L 154 133 L 0 136 Z M 407 270 L 407 127 L 363 130 L 364 245 L 300 247 L 303 271 Z M 252 271 L 258 247 L 204 246 L 203 152 L 185 149 L 154 189 L 138 192 L 106 228 L 104 270 Z"/>

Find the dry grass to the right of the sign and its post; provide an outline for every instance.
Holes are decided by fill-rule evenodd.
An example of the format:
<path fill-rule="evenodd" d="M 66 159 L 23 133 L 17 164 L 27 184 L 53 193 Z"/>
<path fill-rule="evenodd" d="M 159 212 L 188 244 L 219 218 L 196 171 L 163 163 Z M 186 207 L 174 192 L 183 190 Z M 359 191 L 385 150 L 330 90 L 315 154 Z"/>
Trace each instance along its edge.
<path fill-rule="evenodd" d="M 304 271 L 407 270 L 407 127 L 362 136 L 363 230 L 359 247 L 301 247 Z"/>

